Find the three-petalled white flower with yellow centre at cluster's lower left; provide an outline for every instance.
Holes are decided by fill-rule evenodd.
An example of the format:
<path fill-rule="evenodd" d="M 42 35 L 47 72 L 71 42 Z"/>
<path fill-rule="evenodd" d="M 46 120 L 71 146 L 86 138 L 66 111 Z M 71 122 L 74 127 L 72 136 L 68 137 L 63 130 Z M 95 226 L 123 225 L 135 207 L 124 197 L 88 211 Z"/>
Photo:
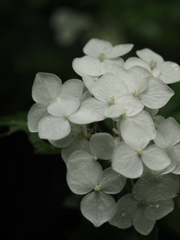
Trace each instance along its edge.
<path fill-rule="evenodd" d="M 88 193 L 81 201 L 81 212 L 99 227 L 110 219 L 115 205 L 109 194 L 119 193 L 126 179 L 111 168 L 103 171 L 98 162 L 82 160 L 81 151 L 73 153 L 70 158 L 77 160 L 67 162 L 68 186 L 76 194 Z"/>

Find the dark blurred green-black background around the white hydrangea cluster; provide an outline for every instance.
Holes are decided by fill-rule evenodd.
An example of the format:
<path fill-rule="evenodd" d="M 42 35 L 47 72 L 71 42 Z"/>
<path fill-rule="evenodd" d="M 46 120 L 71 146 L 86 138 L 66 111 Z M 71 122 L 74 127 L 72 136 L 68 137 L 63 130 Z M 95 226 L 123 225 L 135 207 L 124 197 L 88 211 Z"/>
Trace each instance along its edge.
<path fill-rule="evenodd" d="M 180 64 L 180 1 L 175 0 L 0 0 L 0 29 L 0 116 L 12 119 L 32 106 L 37 72 L 54 73 L 62 81 L 79 78 L 72 60 L 83 56 L 90 38 L 133 43 L 125 59 L 150 48 Z M 180 121 L 180 83 L 171 87 L 176 94 L 160 113 Z M 1 127 L 2 134 L 7 130 Z M 110 232 L 114 239 L 126 239 L 128 230 L 122 235 L 108 224 L 97 229 L 81 216 L 81 197 L 71 195 L 59 155 L 34 154 L 23 131 L 1 137 L 0 144 L 2 239 L 109 239 Z M 159 238 L 179 239 L 171 220 L 165 221 L 158 221 Z"/>

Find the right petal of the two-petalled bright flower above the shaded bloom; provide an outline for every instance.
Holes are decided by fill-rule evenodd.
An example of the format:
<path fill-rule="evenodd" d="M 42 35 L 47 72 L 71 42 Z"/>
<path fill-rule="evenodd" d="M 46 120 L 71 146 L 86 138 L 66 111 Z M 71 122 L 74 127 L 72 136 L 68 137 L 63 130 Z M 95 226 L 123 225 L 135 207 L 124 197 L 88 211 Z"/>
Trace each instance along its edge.
<path fill-rule="evenodd" d="M 155 144 L 147 146 L 141 154 L 144 164 L 152 170 L 163 170 L 171 161 L 164 150 Z"/>

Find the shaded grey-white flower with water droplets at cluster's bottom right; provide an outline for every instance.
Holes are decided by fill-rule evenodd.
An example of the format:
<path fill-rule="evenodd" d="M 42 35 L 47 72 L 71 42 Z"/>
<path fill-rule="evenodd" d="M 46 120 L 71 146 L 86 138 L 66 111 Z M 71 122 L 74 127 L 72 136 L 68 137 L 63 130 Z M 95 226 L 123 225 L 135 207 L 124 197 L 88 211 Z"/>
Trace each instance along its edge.
<path fill-rule="evenodd" d="M 126 194 L 117 202 L 109 223 L 125 229 L 134 226 L 136 231 L 148 235 L 156 222 L 174 209 L 174 202 L 166 186 L 153 190 L 138 180 L 132 194 Z M 136 191 L 135 191 L 136 190 Z"/>

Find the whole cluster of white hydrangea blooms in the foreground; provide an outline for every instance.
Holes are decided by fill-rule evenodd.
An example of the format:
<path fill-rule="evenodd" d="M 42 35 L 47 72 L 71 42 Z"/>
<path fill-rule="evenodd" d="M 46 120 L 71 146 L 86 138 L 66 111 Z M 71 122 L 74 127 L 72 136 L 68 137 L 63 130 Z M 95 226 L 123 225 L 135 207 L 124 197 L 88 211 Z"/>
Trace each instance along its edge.
<path fill-rule="evenodd" d="M 148 235 L 179 192 L 180 126 L 157 112 L 174 95 L 167 84 L 180 81 L 180 67 L 150 49 L 124 62 L 132 47 L 91 39 L 73 61 L 82 80 L 38 73 L 28 127 L 62 149 L 69 188 L 87 194 L 81 212 L 94 226 L 133 225 Z M 112 135 L 101 129 L 107 118 Z"/>

